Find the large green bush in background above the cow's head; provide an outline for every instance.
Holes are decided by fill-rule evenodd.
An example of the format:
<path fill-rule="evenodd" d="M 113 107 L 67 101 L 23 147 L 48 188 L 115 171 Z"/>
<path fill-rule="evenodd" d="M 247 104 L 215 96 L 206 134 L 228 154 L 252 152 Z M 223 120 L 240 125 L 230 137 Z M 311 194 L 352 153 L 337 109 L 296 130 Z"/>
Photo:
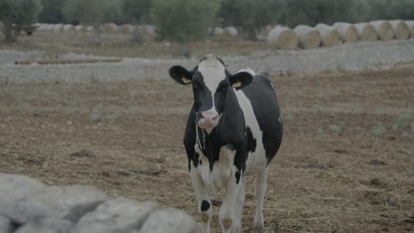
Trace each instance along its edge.
<path fill-rule="evenodd" d="M 215 23 L 220 0 L 152 0 L 152 22 L 159 39 L 187 42 L 205 39 Z"/>

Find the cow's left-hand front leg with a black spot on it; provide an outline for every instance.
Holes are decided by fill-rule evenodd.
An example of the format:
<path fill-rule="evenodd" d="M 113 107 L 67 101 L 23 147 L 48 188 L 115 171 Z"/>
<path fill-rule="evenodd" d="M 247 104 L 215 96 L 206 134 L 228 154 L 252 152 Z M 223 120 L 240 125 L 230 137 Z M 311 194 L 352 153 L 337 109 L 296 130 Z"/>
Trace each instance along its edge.
<path fill-rule="evenodd" d="M 201 220 L 201 230 L 203 233 L 210 232 L 210 220 L 213 215 L 210 197 L 208 197 L 208 188 L 204 185 L 201 176 L 196 172 L 196 168 L 192 166 L 189 171 L 194 191 L 196 192 L 197 202 L 199 204 L 199 215 Z"/>

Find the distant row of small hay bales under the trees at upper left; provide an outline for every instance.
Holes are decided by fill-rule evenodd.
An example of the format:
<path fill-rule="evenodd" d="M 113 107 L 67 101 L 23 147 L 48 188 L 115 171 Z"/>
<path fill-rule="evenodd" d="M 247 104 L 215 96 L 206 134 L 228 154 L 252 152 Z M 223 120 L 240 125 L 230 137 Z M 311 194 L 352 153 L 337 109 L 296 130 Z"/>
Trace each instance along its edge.
<path fill-rule="evenodd" d="M 90 33 L 94 28 L 91 25 L 63 25 L 63 24 L 42 24 L 36 26 L 39 32 L 62 32 L 62 33 Z M 155 35 L 155 27 L 152 25 L 138 25 L 138 31 L 145 34 Z M 107 34 L 133 34 L 135 27 L 133 25 L 115 25 L 114 23 L 103 24 L 101 32 Z"/>

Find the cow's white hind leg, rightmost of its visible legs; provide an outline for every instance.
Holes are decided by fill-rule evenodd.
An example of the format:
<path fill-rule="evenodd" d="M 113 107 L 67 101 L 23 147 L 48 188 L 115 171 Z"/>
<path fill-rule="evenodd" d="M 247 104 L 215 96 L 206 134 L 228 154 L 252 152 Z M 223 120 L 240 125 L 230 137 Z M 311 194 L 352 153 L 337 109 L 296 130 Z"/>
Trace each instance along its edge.
<path fill-rule="evenodd" d="M 255 201 L 256 201 L 256 213 L 255 220 L 253 222 L 253 232 L 263 232 L 263 201 L 265 199 L 267 189 L 267 170 L 266 167 L 263 171 L 260 171 L 255 178 Z"/>

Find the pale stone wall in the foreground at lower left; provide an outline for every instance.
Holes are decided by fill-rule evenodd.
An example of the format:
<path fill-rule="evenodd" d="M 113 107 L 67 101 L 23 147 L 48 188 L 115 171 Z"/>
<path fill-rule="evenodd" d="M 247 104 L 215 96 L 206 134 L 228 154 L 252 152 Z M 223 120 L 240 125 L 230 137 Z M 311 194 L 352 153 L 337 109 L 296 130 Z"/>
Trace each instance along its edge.
<path fill-rule="evenodd" d="M 112 198 L 88 185 L 48 186 L 0 173 L 0 233 L 199 232 L 195 220 L 152 202 Z"/>

